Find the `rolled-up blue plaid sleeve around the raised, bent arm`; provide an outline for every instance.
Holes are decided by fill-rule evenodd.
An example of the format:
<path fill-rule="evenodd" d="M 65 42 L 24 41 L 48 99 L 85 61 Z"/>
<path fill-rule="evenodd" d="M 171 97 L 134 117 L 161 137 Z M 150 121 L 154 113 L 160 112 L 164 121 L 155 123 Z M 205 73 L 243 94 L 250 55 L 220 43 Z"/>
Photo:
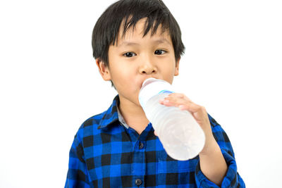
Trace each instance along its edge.
<path fill-rule="evenodd" d="M 223 178 L 223 182 L 221 183 L 221 187 L 245 187 L 245 183 L 243 179 L 240 177 L 239 173 L 237 172 L 237 165 L 235 162 L 234 152 L 231 146 L 231 142 L 228 139 L 226 132 L 222 129 L 221 125 L 209 115 L 209 122 L 212 125 L 212 132 L 214 134 L 214 138 L 216 139 L 217 144 L 219 144 L 221 148 L 221 152 L 223 157 L 226 161 L 228 166 L 228 170 L 226 176 Z M 195 170 L 195 180 L 197 187 L 219 187 L 218 185 L 214 184 L 204 176 L 200 169 L 200 161 L 197 163 L 196 170 Z"/>

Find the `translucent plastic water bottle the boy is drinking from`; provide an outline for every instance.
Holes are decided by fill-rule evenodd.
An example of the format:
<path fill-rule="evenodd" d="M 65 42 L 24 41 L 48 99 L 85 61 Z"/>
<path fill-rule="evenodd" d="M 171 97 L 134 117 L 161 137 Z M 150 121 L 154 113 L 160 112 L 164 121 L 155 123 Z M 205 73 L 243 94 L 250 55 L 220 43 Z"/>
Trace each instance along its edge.
<path fill-rule="evenodd" d="M 204 132 L 189 111 L 159 104 L 173 87 L 165 80 L 148 78 L 142 84 L 139 101 L 152 123 L 168 156 L 185 161 L 197 156 L 204 147 Z"/>

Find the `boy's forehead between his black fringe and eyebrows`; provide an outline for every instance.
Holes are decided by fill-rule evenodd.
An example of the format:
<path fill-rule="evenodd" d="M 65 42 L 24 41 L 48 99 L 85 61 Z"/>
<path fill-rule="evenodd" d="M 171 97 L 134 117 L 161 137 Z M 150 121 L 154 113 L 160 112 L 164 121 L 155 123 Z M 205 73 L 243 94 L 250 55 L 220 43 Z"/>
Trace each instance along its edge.
<path fill-rule="evenodd" d="M 128 27 L 128 29 L 124 32 L 124 22 L 121 23 L 121 27 L 118 31 L 118 36 L 116 38 L 116 45 L 118 46 L 123 41 L 128 41 L 130 39 L 141 39 L 143 37 L 151 37 L 157 39 L 159 43 L 162 42 L 171 42 L 171 35 L 169 34 L 167 29 L 163 29 L 162 25 L 160 24 L 157 27 L 157 30 L 153 33 L 153 27 L 149 28 L 149 31 L 145 35 L 145 31 L 147 29 L 146 25 L 147 18 L 142 18 L 137 21 L 136 25 L 133 25 L 131 27 Z"/>

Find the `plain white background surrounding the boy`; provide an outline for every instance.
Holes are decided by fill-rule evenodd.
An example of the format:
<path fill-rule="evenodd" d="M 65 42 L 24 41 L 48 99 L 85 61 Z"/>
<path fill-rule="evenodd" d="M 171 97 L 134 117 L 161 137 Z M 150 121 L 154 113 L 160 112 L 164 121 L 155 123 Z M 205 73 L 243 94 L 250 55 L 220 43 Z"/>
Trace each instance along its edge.
<path fill-rule="evenodd" d="M 1 1 L 0 187 L 63 187 L 81 123 L 116 91 L 92 58 L 114 1 Z M 247 187 L 281 186 L 281 1 L 164 1 L 186 50 L 173 84 L 226 130 Z"/>

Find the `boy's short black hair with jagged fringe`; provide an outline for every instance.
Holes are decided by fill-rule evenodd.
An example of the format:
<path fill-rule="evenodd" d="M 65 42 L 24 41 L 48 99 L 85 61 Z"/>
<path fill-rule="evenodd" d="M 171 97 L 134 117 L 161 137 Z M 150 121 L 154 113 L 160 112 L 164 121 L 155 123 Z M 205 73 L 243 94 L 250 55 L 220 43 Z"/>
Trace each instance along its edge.
<path fill-rule="evenodd" d="M 130 27 L 134 29 L 138 20 L 142 18 L 147 18 L 143 37 L 149 30 L 152 30 L 151 35 L 154 35 L 159 25 L 162 32 L 166 30 L 169 32 L 177 61 L 184 54 L 185 46 L 176 19 L 161 0 L 121 0 L 106 8 L 92 32 L 93 57 L 99 58 L 106 67 L 109 67 L 109 46 L 114 45 L 115 42 L 117 44 L 121 24 L 123 24 L 124 37 L 128 29 Z M 114 87 L 112 81 L 111 86 Z"/>

